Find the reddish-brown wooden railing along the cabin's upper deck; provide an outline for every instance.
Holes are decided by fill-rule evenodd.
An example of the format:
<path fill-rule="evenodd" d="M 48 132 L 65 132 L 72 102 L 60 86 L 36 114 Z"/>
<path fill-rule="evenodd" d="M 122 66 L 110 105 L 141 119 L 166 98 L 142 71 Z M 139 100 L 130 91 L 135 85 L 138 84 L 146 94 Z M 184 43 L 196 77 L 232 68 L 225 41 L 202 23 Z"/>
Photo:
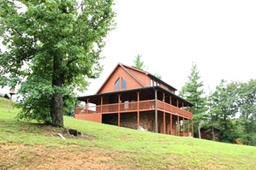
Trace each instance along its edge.
<path fill-rule="evenodd" d="M 138 107 L 139 104 L 139 107 Z M 131 112 L 137 111 L 139 108 L 142 110 L 153 110 L 155 109 L 155 101 L 154 100 L 146 100 L 138 102 L 129 102 L 129 103 L 113 103 L 113 104 L 103 104 L 97 106 L 88 106 L 86 107 L 78 107 L 75 108 L 75 114 L 94 114 L 94 113 L 103 113 L 103 114 L 111 114 L 116 113 L 118 110 L 120 112 Z M 177 114 L 180 116 L 184 116 L 186 118 L 192 118 L 192 113 L 184 110 L 182 108 L 177 108 L 169 103 L 164 103 L 158 100 L 158 109 L 171 113 Z"/>

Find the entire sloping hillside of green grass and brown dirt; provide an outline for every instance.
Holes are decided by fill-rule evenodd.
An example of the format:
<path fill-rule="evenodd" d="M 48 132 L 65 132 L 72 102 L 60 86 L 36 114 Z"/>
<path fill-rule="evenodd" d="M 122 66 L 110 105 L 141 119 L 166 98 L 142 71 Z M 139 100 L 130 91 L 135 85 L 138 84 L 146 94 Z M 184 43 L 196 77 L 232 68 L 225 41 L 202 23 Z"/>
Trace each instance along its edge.
<path fill-rule="evenodd" d="M 65 128 L 15 120 L 0 98 L 0 169 L 254 169 L 256 147 L 64 118 Z M 60 132 L 66 139 L 60 138 Z"/>

